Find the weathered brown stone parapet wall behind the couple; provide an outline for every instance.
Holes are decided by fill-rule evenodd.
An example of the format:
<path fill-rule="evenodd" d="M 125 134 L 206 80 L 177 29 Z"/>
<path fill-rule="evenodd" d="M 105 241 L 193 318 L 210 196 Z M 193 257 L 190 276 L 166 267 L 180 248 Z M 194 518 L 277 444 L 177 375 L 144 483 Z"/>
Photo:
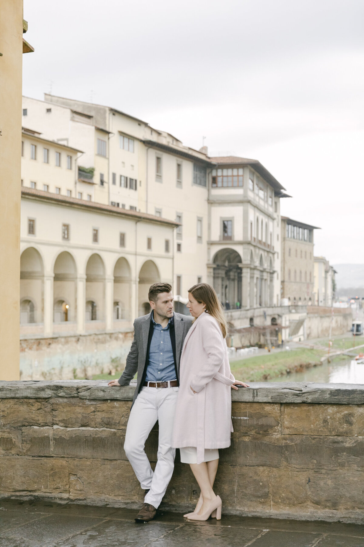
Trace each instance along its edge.
<path fill-rule="evenodd" d="M 0 382 L 0 497 L 138 507 L 123 450 L 134 386 Z M 234 433 L 220 450 L 225 513 L 364 522 L 364 385 L 252 383 L 232 392 Z M 157 459 L 158 426 L 146 443 Z M 177 451 L 164 504 L 199 495 Z"/>

